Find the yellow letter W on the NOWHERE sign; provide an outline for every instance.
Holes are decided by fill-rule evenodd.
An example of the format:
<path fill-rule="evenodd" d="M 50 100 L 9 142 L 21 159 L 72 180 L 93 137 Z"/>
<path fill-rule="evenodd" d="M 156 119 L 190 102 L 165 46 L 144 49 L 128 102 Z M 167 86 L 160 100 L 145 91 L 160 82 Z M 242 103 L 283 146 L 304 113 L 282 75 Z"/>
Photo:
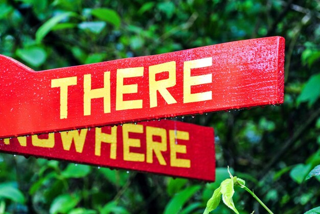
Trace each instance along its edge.
<path fill-rule="evenodd" d="M 82 153 L 87 129 L 81 129 L 80 134 L 78 130 L 61 132 L 62 146 L 64 150 L 70 150 L 72 141 L 75 142 L 76 151 Z"/>

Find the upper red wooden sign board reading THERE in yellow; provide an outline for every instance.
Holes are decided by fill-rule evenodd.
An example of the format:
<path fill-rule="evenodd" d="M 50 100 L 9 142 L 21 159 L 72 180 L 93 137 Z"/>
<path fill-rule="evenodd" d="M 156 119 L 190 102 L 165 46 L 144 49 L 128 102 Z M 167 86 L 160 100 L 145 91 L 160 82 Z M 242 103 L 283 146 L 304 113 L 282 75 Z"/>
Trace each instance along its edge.
<path fill-rule="evenodd" d="M 0 138 L 283 103 L 284 38 L 34 72 L 0 55 Z"/>

